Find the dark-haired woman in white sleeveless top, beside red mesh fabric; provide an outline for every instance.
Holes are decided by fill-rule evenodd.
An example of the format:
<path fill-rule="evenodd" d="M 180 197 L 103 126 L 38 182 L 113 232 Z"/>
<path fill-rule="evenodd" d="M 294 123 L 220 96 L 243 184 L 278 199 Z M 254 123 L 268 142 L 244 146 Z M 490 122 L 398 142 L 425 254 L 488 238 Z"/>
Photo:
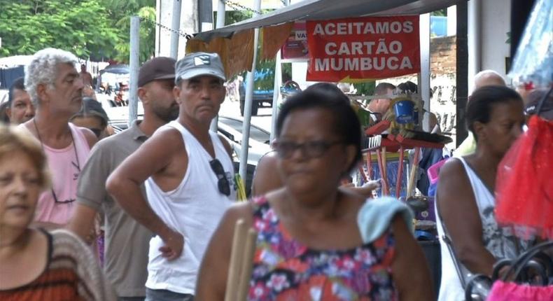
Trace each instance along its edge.
<path fill-rule="evenodd" d="M 440 170 L 437 186 L 437 230 L 442 246 L 439 300 L 464 300 L 454 258 L 442 241 L 444 225 L 463 275 L 491 275 L 497 260 L 514 258 L 526 248 L 512 228 L 496 223 L 493 214 L 498 164 L 522 132 L 522 99 L 504 86 L 482 87 L 470 97 L 466 123 L 477 140 L 476 152 L 449 160 Z"/>

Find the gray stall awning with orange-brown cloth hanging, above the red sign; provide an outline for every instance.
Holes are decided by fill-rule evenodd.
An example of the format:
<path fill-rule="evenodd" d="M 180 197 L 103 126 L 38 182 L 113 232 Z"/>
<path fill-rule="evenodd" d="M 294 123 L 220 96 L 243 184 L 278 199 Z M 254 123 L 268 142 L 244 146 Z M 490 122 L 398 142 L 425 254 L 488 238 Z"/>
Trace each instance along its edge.
<path fill-rule="evenodd" d="M 262 28 L 262 59 L 273 58 L 298 20 L 330 20 L 360 16 L 419 15 L 465 0 L 304 0 L 233 25 L 204 31 L 186 44 L 186 52 L 217 52 L 227 78 L 251 69 L 253 29 Z"/>

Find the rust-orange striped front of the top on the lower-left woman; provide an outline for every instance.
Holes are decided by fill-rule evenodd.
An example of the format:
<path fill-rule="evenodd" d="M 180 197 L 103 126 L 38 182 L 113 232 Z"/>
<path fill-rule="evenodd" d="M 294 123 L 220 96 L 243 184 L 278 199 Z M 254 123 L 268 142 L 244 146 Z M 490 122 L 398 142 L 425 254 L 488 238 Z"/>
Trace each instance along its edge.
<path fill-rule="evenodd" d="M 84 300 L 79 297 L 78 277 L 73 269 L 48 269 L 19 288 L 0 290 L 2 301 Z"/>

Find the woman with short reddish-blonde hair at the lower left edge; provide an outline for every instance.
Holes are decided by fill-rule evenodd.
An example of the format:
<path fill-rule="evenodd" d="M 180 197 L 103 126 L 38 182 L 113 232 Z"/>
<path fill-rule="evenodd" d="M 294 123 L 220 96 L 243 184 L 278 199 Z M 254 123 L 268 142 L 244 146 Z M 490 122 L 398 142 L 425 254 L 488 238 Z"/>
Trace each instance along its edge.
<path fill-rule="evenodd" d="M 78 237 L 31 228 L 46 169 L 34 137 L 0 126 L 0 300 L 116 300 Z"/>

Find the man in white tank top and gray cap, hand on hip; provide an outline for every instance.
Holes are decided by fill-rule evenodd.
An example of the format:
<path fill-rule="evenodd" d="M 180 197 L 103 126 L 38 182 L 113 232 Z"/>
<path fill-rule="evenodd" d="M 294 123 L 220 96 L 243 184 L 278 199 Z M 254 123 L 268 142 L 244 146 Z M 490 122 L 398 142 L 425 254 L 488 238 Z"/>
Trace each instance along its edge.
<path fill-rule="evenodd" d="M 160 127 L 106 184 L 123 209 L 155 234 L 146 300 L 193 300 L 204 251 L 236 195 L 230 145 L 209 131 L 225 99 L 221 59 L 187 55 L 176 63 L 175 81 L 179 118 Z"/>

